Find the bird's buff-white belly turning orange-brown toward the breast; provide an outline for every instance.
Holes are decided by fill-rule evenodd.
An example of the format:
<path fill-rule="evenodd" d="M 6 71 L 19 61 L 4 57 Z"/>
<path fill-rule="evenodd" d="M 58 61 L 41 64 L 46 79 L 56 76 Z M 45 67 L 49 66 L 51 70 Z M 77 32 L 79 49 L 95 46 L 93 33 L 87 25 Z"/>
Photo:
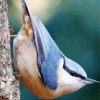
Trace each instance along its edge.
<path fill-rule="evenodd" d="M 16 67 L 20 72 L 20 80 L 40 98 L 55 98 L 54 91 L 46 87 L 41 79 L 37 65 L 37 51 L 35 44 L 29 40 L 20 42 L 18 48 L 15 48 Z"/>

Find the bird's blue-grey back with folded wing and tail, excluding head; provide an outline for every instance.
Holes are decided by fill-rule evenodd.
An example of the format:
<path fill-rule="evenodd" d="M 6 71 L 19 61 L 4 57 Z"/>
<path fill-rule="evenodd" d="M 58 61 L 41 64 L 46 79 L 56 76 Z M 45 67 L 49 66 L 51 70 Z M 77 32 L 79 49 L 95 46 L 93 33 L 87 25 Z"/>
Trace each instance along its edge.
<path fill-rule="evenodd" d="M 30 12 L 25 0 L 20 0 L 24 11 L 30 16 L 33 41 L 38 53 L 38 69 L 42 80 L 51 89 L 57 88 L 57 66 L 62 54 L 43 23 Z"/>

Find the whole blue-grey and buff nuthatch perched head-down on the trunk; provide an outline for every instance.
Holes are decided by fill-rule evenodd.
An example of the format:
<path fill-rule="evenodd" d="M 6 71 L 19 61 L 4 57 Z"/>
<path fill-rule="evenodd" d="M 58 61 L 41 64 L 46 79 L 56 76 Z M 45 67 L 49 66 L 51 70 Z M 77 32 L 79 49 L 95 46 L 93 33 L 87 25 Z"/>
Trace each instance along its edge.
<path fill-rule="evenodd" d="M 92 83 L 84 69 L 58 48 L 43 23 L 30 12 L 26 1 L 23 25 L 14 40 L 15 66 L 21 81 L 40 98 L 56 98 Z"/>

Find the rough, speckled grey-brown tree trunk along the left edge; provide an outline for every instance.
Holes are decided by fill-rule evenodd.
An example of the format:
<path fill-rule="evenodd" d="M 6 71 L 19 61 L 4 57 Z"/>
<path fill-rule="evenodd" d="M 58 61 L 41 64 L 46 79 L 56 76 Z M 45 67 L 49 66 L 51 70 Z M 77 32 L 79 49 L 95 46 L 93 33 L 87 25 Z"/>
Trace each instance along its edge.
<path fill-rule="evenodd" d="M 7 0 L 0 0 L 0 100 L 20 100 L 19 83 L 13 76 Z"/>

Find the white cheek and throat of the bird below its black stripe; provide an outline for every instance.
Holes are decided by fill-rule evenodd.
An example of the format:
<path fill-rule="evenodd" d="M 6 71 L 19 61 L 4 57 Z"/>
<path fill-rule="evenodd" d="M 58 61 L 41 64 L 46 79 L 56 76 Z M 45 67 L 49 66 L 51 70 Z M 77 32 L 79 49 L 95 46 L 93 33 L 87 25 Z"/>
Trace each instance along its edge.
<path fill-rule="evenodd" d="M 82 80 L 80 78 L 71 76 L 67 71 L 65 71 L 63 64 L 63 60 L 60 60 L 57 70 L 58 86 L 73 91 L 83 87 L 84 83 L 82 83 Z"/>

